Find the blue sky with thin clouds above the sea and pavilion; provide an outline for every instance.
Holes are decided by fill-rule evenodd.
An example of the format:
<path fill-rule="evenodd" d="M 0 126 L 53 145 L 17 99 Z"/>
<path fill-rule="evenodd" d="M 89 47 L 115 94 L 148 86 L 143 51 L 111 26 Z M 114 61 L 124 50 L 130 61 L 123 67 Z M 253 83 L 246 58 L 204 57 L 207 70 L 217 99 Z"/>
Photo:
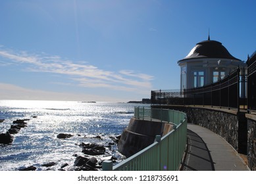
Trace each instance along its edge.
<path fill-rule="evenodd" d="M 256 50 L 254 0 L 2 0 L 0 100 L 141 101 L 179 89 L 210 32 L 236 58 Z"/>

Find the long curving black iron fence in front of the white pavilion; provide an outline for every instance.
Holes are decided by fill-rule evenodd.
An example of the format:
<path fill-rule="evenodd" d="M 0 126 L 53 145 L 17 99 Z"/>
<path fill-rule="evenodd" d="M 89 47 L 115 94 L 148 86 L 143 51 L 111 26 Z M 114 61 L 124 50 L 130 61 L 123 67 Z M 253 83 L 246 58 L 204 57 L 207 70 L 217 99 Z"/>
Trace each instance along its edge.
<path fill-rule="evenodd" d="M 241 74 L 240 74 L 241 73 Z M 246 108 L 245 71 L 240 68 L 226 78 L 193 89 L 151 91 L 152 104 L 203 105 Z"/>

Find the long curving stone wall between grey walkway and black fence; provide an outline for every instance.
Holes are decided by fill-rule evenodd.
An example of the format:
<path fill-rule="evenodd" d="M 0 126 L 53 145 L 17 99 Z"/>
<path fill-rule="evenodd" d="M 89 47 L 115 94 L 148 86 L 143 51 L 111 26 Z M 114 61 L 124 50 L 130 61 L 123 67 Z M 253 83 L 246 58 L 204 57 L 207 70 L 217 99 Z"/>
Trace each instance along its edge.
<path fill-rule="evenodd" d="M 159 108 L 160 106 L 153 106 Z M 234 110 L 207 108 L 203 106 L 161 106 L 185 112 L 188 123 L 197 124 L 210 129 L 224 138 L 238 152 L 246 154 L 246 122 Z M 243 131 L 240 131 L 242 129 Z"/>

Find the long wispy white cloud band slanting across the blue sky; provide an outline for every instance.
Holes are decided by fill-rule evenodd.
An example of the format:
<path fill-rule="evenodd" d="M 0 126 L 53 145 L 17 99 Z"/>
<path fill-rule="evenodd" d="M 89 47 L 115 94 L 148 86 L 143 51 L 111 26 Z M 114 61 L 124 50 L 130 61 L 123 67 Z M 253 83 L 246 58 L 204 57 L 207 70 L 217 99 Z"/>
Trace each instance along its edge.
<path fill-rule="evenodd" d="M 103 70 L 88 62 L 74 62 L 59 56 L 31 54 L 24 51 L 14 52 L 0 48 L 3 63 L 24 65 L 28 72 L 48 72 L 63 74 L 82 87 L 101 87 L 121 91 L 148 93 L 153 76 L 134 70 Z"/>

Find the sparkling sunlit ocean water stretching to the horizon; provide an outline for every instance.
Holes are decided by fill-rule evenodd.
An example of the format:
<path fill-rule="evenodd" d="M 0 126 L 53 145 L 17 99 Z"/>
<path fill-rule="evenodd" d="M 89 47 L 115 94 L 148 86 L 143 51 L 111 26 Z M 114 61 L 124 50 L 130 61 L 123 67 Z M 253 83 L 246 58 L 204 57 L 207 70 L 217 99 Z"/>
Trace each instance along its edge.
<path fill-rule="evenodd" d="M 15 120 L 29 119 L 26 127 L 14 134 L 9 145 L 0 144 L 0 170 L 13 171 L 34 166 L 36 170 L 69 170 L 76 156 L 84 155 L 81 143 L 110 145 L 103 156 L 124 156 L 117 150 L 113 137 L 120 135 L 134 115 L 130 103 L 84 103 L 74 101 L 0 101 L 0 133 L 5 133 Z M 140 105 L 141 106 L 141 105 Z M 147 106 L 147 105 L 144 105 Z M 59 139 L 59 133 L 73 135 Z M 101 157 L 97 156 L 97 160 Z M 43 164 L 55 162 L 54 166 Z"/>

